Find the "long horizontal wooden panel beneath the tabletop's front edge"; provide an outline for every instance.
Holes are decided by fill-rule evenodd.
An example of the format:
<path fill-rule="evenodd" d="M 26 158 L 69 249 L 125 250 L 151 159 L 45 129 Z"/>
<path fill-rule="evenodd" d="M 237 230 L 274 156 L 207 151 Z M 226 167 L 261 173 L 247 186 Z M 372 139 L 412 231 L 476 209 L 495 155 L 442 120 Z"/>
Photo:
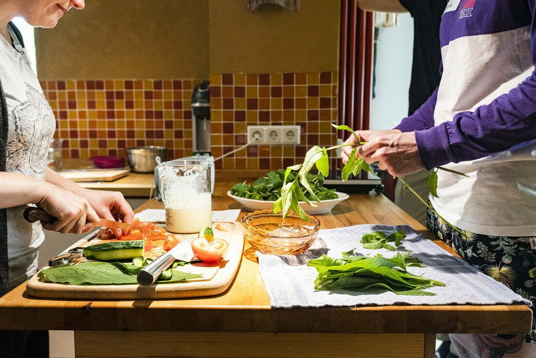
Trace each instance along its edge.
<path fill-rule="evenodd" d="M 433 358 L 435 334 L 75 332 L 77 358 Z"/>

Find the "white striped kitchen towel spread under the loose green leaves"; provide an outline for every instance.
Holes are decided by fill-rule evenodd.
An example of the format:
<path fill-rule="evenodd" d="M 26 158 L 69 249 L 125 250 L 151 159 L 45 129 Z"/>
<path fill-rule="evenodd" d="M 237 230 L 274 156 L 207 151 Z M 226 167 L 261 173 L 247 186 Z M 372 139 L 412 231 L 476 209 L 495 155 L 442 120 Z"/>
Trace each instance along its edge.
<path fill-rule="evenodd" d="M 407 235 L 396 251 L 367 250 L 359 243 L 366 233 L 385 231 L 387 235 L 404 231 Z M 409 252 L 423 261 L 427 267 L 407 267 L 415 275 L 443 282 L 445 287 L 426 289 L 435 296 L 403 296 L 374 291 L 317 291 L 314 281 L 317 271 L 307 266 L 307 261 L 321 254 L 340 258 L 341 252 L 354 249 L 356 255 L 374 256 L 381 253 L 391 258 L 397 252 Z M 467 264 L 460 258 L 446 252 L 407 225 L 355 225 L 338 229 L 323 229 L 315 243 L 300 255 L 265 255 L 257 252 L 260 275 L 272 308 L 320 307 L 320 306 L 361 306 L 361 305 L 444 305 L 444 304 L 526 304 L 528 299 L 517 295 L 502 283 L 495 281 Z M 371 293 L 376 294 L 371 294 Z"/>

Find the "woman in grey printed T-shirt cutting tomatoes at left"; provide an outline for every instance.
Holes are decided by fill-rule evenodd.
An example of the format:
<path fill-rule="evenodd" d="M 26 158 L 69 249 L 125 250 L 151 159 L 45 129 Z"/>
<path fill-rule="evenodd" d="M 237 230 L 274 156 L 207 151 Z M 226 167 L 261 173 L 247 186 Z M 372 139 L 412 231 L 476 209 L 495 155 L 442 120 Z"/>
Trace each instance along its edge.
<path fill-rule="evenodd" d="M 32 26 L 54 27 L 72 7 L 83 9 L 84 0 L 0 0 L 0 296 L 36 273 L 41 227 L 82 233 L 99 217 L 130 223 L 134 216 L 122 194 L 84 189 L 47 168 L 54 114 L 10 21 L 20 16 Z M 28 204 L 57 220 L 26 222 Z M 0 356 L 48 356 L 44 333 L 0 331 Z"/>

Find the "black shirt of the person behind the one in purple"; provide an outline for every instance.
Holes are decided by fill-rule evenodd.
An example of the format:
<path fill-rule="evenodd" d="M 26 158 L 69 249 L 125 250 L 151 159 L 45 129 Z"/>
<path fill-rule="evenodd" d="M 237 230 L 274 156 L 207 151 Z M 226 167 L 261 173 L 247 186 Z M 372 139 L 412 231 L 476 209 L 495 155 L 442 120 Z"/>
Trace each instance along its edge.
<path fill-rule="evenodd" d="M 399 0 L 413 17 L 413 64 L 408 115 L 426 102 L 441 81 L 439 27 L 447 0 Z"/>

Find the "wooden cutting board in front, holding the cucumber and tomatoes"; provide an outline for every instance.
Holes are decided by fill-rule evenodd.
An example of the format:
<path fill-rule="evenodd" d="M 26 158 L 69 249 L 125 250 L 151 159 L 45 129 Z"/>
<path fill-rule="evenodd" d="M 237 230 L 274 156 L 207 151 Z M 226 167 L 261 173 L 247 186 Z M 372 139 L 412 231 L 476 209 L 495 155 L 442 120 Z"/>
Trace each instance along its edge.
<path fill-rule="evenodd" d="M 215 230 L 216 224 L 220 224 L 220 227 L 226 229 L 227 232 Z M 28 281 L 26 291 L 34 297 L 76 299 L 161 299 L 217 295 L 229 287 L 238 271 L 244 249 L 244 236 L 242 225 L 237 222 L 213 223 L 212 229 L 216 237 L 229 243 L 229 249 L 225 256 L 212 264 L 202 262 L 177 268 L 183 272 L 203 274 L 198 279 L 179 283 L 156 283 L 151 286 L 139 286 L 138 284 L 77 286 L 41 282 L 38 276 L 34 275 Z M 197 237 L 197 234 L 187 234 L 184 237 Z M 94 239 L 92 235 L 80 240 L 72 247 L 98 243 L 99 240 Z M 44 268 L 48 268 L 48 266 Z"/>

